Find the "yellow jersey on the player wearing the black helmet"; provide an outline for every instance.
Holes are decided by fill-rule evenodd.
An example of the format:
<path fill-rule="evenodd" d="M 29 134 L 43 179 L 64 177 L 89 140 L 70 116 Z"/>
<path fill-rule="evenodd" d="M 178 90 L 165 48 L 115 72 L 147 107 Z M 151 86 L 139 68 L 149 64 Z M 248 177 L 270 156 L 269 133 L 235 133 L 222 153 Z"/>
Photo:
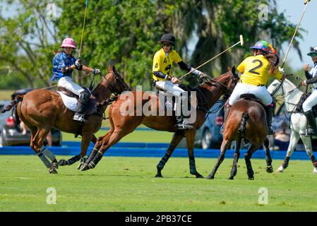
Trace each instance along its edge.
<path fill-rule="evenodd" d="M 172 50 L 166 56 L 164 49 L 162 48 L 157 51 L 153 57 L 152 71 L 161 71 L 167 76 L 172 76 L 173 62 L 177 64 L 180 61 L 182 61 L 182 59 L 181 57 L 179 57 L 179 54 L 175 50 Z M 157 76 L 155 76 L 154 74 L 152 75 L 152 77 L 155 81 L 165 81 L 164 78 L 157 78 Z"/>

